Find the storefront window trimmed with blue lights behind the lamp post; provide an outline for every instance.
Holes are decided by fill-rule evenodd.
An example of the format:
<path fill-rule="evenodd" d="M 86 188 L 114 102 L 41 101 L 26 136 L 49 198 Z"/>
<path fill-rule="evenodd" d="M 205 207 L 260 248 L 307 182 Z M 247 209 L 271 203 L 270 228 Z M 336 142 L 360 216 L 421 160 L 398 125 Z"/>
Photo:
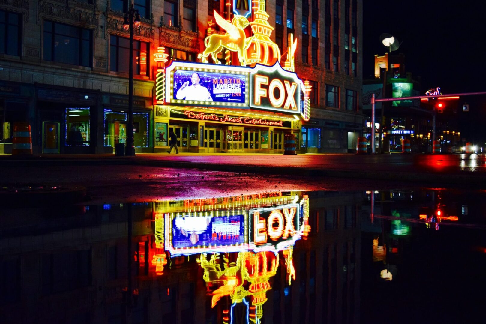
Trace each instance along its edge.
<path fill-rule="evenodd" d="M 135 147 L 148 147 L 148 113 L 133 113 L 133 140 Z M 104 146 L 126 143 L 127 114 L 120 111 L 104 110 Z"/>

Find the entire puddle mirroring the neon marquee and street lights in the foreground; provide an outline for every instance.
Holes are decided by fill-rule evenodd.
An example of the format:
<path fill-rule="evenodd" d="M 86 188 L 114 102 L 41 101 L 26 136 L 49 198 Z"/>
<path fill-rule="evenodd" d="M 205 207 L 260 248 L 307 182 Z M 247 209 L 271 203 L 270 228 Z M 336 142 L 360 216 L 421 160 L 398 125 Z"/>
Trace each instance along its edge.
<path fill-rule="evenodd" d="M 0 210 L 2 322 L 474 319 L 485 196 L 295 191 Z"/>

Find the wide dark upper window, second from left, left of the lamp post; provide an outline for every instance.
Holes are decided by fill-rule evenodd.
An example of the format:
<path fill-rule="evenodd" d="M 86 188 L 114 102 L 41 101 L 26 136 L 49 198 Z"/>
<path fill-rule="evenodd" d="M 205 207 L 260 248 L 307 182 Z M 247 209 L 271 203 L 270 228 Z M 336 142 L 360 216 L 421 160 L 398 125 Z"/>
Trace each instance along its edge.
<path fill-rule="evenodd" d="M 92 66 L 92 33 L 89 29 L 44 21 L 44 60 Z"/>

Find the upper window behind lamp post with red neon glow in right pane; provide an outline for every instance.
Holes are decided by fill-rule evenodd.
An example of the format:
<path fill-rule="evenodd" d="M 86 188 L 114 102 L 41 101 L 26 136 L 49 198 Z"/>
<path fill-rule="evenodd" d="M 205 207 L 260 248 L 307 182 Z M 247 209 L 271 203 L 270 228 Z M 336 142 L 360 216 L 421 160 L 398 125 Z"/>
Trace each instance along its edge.
<path fill-rule="evenodd" d="M 150 57 L 149 43 L 139 40 L 133 41 L 133 73 L 136 75 L 145 75 L 146 71 L 149 71 L 149 62 L 147 60 L 147 66 L 140 69 L 139 57 L 140 53 L 147 53 L 147 57 Z M 128 60 L 130 55 L 130 40 L 125 37 L 110 35 L 110 71 L 128 73 Z"/>

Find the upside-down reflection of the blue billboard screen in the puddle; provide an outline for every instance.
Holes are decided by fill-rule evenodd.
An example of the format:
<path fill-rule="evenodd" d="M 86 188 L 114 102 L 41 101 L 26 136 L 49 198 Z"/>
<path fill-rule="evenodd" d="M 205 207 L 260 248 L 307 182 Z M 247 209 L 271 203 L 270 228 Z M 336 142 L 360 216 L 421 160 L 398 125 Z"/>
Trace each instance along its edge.
<path fill-rule="evenodd" d="M 228 217 L 175 217 L 174 248 L 228 246 L 244 242 L 243 215 Z"/>

